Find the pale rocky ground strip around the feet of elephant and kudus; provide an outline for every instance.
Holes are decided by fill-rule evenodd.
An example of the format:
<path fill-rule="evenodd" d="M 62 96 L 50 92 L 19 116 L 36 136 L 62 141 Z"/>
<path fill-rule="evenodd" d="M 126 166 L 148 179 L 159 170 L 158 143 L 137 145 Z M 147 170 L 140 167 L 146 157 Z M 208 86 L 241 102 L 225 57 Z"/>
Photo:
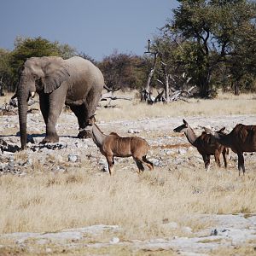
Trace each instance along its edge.
<path fill-rule="evenodd" d="M 54 159 L 52 163 L 52 171 L 65 172 L 69 164 L 79 163 L 83 160 L 90 160 L 90 164 L 98 171 L 106 171 L 106 160 L 97 150 L 96 145 L 91 139 L 78 139 L 77 119 L 73 113 L 61 113 L 57 131 L 60 135 L 59 143 L 40 144 L 43 140 L 44 121 L 41 113 L 29 113 L 27 115 L 28 124 L 28 141 L 26 154 L 28 155 L 26 162 L 22 159 L 16 159 L 15 153 L 20 148 L 20 137 L 18 118 L 16 115 L 0 117 L 0 148 L 1 154 L 0 173 L 12 172 L 17 175 L 25 175 L 28 170 L 34 168 L 34 163 L 38 161 L 41 166 L 49 167 L 49 159 Z M 202 127 L 207 126 L 212 130 L 218 130 L 225 126 L 226 131 L 231 131 L 238 123 L 254 124 L 255 116 L 253 115 L 236 115 L 227 117 L 189 117 L 187 118 L 189 125 L 195 129 L 197 135 L 203 131 Z M 98 125 L 103 132 L 118 131 L 120 136 L 140 136 L 144 137 L 151 146 L 149 156 L 155 166 L 170 168 L 177 165 L 184 166 L 202 166 L 203 161 L 201 155 L 198 154 L 196 148 L 193 148 L 186 137 L 181 134 L 174 133 L 172 130 L 178 125 L 182 125 L 182 118 L 155 118 L 155 119 L 137 119 L 132 121 L 120 120 L 111 122 L 99 121 Z M 60 154 L 61 152 L 61 154 Z M 38 153 L 40 159 L 38 160 Z M 230 152 L 229 165 L 236 166 L 236 154 Z M 253 153 L 245 154 L 247 162 L 255 161 Z M 127 161 L 127 159 L 117 159 L 117 162 Z M 212 162 L 214 160 L 212 159 Z M 100 166 L 99 166 L 100 164 Z M 248 170 L 249 171 L 249 170 Z"/>

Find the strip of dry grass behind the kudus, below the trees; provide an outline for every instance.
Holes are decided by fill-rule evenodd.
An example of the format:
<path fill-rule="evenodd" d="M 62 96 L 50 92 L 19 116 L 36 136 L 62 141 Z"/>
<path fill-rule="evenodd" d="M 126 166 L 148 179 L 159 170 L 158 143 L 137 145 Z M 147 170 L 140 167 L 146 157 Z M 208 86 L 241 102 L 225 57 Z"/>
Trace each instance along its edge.
<path fill-rule="evenodd" d="M 145 117 L 252 114 L 256 113 L 255 102 L 255 94 L 234 96 L 222 93 L 219 94 L 217 99 L 213 100 L 189 99 L 189 102 L 158 103 L 154 106 L 142 103 L 138 99 L 132 102 L 116 100 L 111 102 L 111 105 L 116 106 L 116 108 L 111 110 L 109 108 L 99 109 L 96 112 L 96 119 L 109 121 L 113 119 L 142 119 Z M 101 102 L 101 105 L 105 106 L 106 102 Z M 136 109 L 136 111 L 131 111 L 131 109 Z"/>

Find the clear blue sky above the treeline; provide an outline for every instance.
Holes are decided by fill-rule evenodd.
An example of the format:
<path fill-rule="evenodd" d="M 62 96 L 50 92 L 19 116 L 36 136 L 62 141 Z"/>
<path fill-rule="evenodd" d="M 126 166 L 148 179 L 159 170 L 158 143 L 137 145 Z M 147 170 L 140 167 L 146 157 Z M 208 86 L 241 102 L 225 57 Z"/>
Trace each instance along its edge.
<path fill-rule="evenodd" d="M 143 55 L 148 38 L 165 25 L 175 0 L 3 0 L 0 48 L 16 36 L 69 44 L 97 61 L 119 53 Z"/>

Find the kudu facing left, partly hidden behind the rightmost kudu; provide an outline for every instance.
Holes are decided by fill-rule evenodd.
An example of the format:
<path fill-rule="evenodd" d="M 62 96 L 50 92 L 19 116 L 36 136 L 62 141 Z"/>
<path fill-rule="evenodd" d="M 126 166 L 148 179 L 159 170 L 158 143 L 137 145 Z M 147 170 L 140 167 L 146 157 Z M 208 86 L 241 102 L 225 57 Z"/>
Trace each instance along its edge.
<path fill-rule="evenodd" d="M 183 119 L 183 125 L 178 126 L 173 131 L 175 132 L 184 132 L 189 143 L 197 148 L 198 152 L 201 154 L 206 170 L 210 165 L 210 155 L 214 155 L 215 162 L 220 167 L 220 154 L 223 155 L 224 166 L 227 168 L 226 154 L 228 154 L 228 148 L 225 148 L 223 145 L 219 144 L 214 140 L 211 134 L 202 132 L 201 136 L 197 137 L 193 129 L 189 124 Z M 219 133 L 224 133 L 224 128 L 218 131 Z"/>

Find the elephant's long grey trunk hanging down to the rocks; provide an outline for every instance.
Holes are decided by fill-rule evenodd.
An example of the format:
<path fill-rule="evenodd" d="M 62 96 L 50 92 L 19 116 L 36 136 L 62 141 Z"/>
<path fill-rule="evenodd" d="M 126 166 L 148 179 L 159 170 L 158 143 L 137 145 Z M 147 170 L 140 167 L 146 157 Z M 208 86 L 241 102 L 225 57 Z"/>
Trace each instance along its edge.
<path fill-rule="evenodd" d="M 20 122 L 20 143 L 21 149 L 26 148 L 26 113 L 27 113 L 27 98 L 26 93 L 18 91 L 18 108 Z"/>

